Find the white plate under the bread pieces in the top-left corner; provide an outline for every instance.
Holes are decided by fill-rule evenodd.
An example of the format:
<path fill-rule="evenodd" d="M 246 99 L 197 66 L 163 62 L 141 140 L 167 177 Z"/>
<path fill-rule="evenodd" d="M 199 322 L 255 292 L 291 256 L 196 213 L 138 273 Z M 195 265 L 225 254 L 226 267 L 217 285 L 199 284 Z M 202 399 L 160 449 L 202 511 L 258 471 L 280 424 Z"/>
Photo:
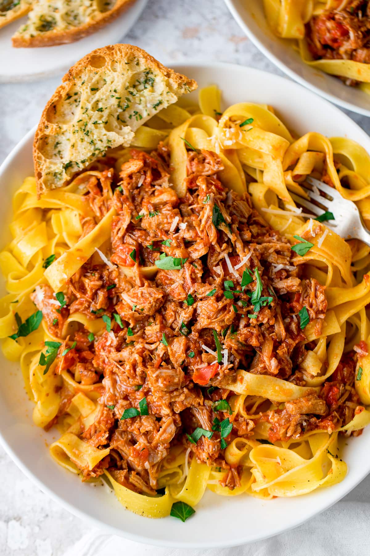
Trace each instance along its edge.
<path fill-rule="evenodd" d="M 0 29 L 0 83 L 34 81 L 66 72 L 95 48 L 121 42 L 148 0 L 136 0 L 121 16 L 96 33 L 70 44 L 43 48 L 13 48 L 12 35 L 27 16 Z"/>

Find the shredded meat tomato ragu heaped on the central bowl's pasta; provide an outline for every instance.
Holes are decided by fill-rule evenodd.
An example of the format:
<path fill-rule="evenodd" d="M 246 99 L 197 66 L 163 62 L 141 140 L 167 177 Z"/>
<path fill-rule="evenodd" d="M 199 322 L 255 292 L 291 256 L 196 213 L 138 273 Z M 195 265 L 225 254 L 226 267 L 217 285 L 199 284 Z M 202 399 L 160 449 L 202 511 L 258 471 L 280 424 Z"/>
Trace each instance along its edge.
<path fill-rule="evenodd" d="M 224 469 L 222 484 L 234 488 L 239 469 L 224 459 L 233 435 L 259 439 L 261 424 L 268 424 L 272 442 L 316 429 L 331 433 L 363 409 L 351 352 L 305 398 L 267 400 L 268 409 L 262 403 L 253 419 L 233 413 L 227 385 L 238 369 L 305 385 L 301 364 L 315 344 L 307 343 L 298 314 L 303 310 L 320 329 L 325 287 L 302 278 L 290 243 L 262 220 L 247 193 L 225 190 L 216 153 L 187 156 L 184 198 L 170 187 L 162 144 L 150 154 L 132 150 L 119 176 L 103 160 L 106 169 L 100 181 L 89 177 L 87 197 L 97 220 L 116 209 L 109 260 L 91 257 L 68 281 L 60 306 L 47 285 L 31 295 L 53 336 L 61 336 L 73 312 L 103 318 L 95 336 L 80 327 L 61 340 L 55 369 L 98 397 L 95 421 L 87 428 L 81 421 L 79 438 L 98 449 L 110 446 L 110 454 L 82 469 L 84 478 L 109 469 L 120 484 L 146 494 L 158 489 L 171 446 Z M 94 225 L 84 219 L 84 234 Z M 61 394 L 48 426 L 74 395 L 68 385 Z M 196 429 L 208 434 L 195 441 Z"/>

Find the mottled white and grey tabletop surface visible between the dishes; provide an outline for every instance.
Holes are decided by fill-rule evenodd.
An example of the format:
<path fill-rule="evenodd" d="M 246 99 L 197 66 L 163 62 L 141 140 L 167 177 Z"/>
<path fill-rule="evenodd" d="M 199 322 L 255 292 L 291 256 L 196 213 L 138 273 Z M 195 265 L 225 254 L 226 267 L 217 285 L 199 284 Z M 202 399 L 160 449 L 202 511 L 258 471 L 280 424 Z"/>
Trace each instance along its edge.
<path fill-rule="evenodd" d="M 223 61 L 280 73 L 244 36 L 223 0 L 149 0 L 123 42 L 136 44 L 168 64 L 189 59 Z M 0 162 L 38 122 L 60 77 L 0 85 Z M 370 132 L 370 118 L 349 115 Z M 63 556 L 90 530 L 40 492 L 1 447 L 0 477 L 1 556 Z M 346 501 L 361 500 L 362 490 L 363 484 Z"/>

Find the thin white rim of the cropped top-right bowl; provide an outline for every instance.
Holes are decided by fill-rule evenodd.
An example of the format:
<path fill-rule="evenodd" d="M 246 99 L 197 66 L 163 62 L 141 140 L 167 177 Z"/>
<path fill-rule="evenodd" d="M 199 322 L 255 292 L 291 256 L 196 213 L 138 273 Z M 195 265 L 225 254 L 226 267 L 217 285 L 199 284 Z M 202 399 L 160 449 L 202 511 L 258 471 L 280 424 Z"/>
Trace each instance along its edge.
<path fill-rule="evenodd" d="M 305 78 L 299 76 L 295 71 L 293 71 L 293 69 L 291 69 L 284 62 L 282 62 L 280 58 L 275 56 L 275 54 L 273 54 L 273 52 L 271 52 L 270 49 L 267 48 L 265 44 L 263 44 L 263 42 L 256 37 L 254 32 L 250 29 L 250 27 L 245 22 L 244 18 L 242 18 L 239 9 L 236 6 L 236 2 L 238 1 L 239 0 L 224 0 L 227 8 L 229 8 L 232 17 L 234 17 L 236 23 L 239 25 L 241 30 L 244 31 L 244 33 L 247 35 L 250 41 L 255 45 L 255 47 L 258 48 L 259 51 L 262 52 L 262 54 L 266 56 L 268 60 L 270 60 L 270 62 L 272 62 L 278 69 L 280 69 L 283 73 L 289 76 L 293 81 L 296 81 L 299 85 L 305 87 L 311 92 L 316 93 L 316 95 L 325 98 L 325 100 L 330 101 L 335 105 L 341 106 L 342 108 L 345 108 L 346 110 L 349 110 L 351 112 L 356 112 L 357 114 L 361 114 L 362 116 L 370 117 L 370 107 L 368 108 L 368 110 L 366 108 L 361 108 L 360 106 L 356 106 L 351 102 L 343 101 L 340 98 L 336 97 L 335 95 L 332 95 L 331 93 L 327 93 L 326 91 L 323 91 L 320 87 L 317 87 L 316 85 L 312 85 L 312 83 L 309 83 L 307 80 L 305 80 Z M 370 106 L 370 96 L 369 96 L 369 106 Z"/>

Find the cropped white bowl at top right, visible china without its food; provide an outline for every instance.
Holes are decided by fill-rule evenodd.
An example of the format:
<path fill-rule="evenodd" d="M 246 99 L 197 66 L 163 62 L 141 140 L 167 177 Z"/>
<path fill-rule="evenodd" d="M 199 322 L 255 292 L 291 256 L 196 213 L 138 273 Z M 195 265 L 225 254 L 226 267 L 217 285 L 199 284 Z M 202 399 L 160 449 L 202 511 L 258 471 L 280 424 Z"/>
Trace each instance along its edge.
<path fill-rule="evenodd" d="M 262 0 L 225 0 L 232 16 L 259 50 L 289 77 L 347 110 L 370 116 L 370 95 L 302 61 L 289 41 L 268 27 Z"/>

